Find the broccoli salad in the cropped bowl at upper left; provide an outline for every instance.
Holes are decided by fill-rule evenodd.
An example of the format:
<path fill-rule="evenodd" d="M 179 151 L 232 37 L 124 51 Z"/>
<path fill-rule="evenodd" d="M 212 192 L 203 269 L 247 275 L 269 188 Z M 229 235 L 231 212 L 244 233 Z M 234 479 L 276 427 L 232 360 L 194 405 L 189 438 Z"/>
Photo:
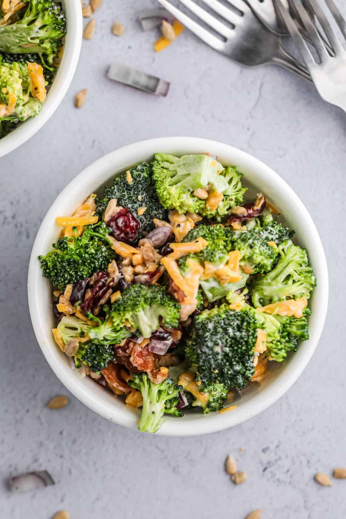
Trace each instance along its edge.
<path fill-rule="evenodd" d="M 39 113 L 65 33 L 60 2 L 0 0 L 0 139 Z"/>

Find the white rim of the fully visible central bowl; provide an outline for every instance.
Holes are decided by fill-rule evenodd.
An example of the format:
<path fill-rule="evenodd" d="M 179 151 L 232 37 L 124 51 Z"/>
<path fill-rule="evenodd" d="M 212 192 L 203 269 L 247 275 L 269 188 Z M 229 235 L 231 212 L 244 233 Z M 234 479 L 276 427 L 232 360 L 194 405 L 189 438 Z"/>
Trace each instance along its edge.
<path fill-rule="evenodd" d="M 156 434 L 161 435 L 169 435 L 169 436 L 186 436 L 186 435 L 199 435 L 221 431 L 227 429 L 229 427 L 233 427 L 242 423 L 245 420 L 248 420 L 255 415 L 259 414 L 261 411 L 264 411 L 271 404 L 276 402 L 282 395 L 295 383 L 298 377 L 301 375 L 302 371 L 307 366 L 309 360 L 312 357 L 312 354 L 319 342 L 325 318 L 327 312 L 328 305 L 328 270 L 327 270 L 327 262 L 325 253 L 323 250 L 323 245 L 320 239 L 320 236 L 317 232 L 317 229 L 312 221 L 312 218 L 302 203 L 302 201 L 298 198 L 294 190 L 271 168 L 269 168 L 265 163 L 261 162 L 257 158 L 253 157 L 250 154 L 242 151 L 239 148 L 235 148 L 228 144 L 223 144 L 217 141 L 201 139 L 196 137 L 161 137 L 156 139 L 149 139 L 145 141 L 136 142 L 133 144 L 129 144 L 127 146 L 123 146 L 109 154 L 101 157 L 100 159 L 93 162 L 83 171 L 81 171 L 74 179 L 67 184 L 67 186 L 62 190 L 60 195 L 56 198 L 56 200 L 52 203 L 50 209 L 47 211 L 43 222 L 38 229 L 37 236 L 33 245 L 32 254 L 30 258 L 29 264 L 29 272 L 28 272 L 28 298 L 29 298 L 29 309 L 31 320 L 33 324 L 33 329 L 38 341 L 38 344 L 43 351 L 48 363 L 50 364 L 52 370 L 58 378 L 62 381 L 65 387 L 70 390 L 75 397 L 77 397 L 82 403 L 87 405 L 92 411 L 95 411 L 99 415 L 112 420 L 118 425 L 122 425 L 127 428 L 136 429 L 136 419 L 137 415 L 133 415 L 133 413 L 129 412 L 128 406 L 123 406 L 123 408 L 113 408 L 107 402 L 105 402 L 101 393 L 96 390 L 87 391 L 85 387 L 80 384 L 80 379 L 76 376 L 72 376 L 74 372 L 70 372 L 71 374 L 67 374 L 63 369 L 62 363 L 54 358 L 53 354 L 46 347 L 47 343 L 54 343 L 53 337 L 50 334 L 45 334 L 44 332 L 44 321 L 41 320 L 40 316 L 40 294 L 38 293 L 37 286 L 39 286 L 39 282 L 42 278 L 41 269 L 39 267 L 39 262 L 37 261 L 37 256 L 40 251 L 40 243 L 43 241 L 44 237 L 49 233 L 49 230 L 52 228 L 52 222 L 54 221 L 54 217 L 59 213 L 60 201 L 65 197 L 72 196 L 71 193 L 77 193 L 77 190 L 80 189 L 81 180 L 82 183 L 90 186 L 90 191 L 101 187 L 104 182 L 98 182 L 98 175 L 101 174 L 102 169 L 109 168 L 109 165 L 113 165 L 113 163 L 127 163 L 126 167 L 129 167 L 131 162 L 129 158 L 132 155 L 138 155 L 141 152 L 142 157 L 150 156 L 155 153 L 155 149 L 190 149 L 189 153 L 203 153 L 202 151 L 196 151 L 197 149 L 204 151 L 210 151 L 213 154 L 222 156 L 223 153 L 225 155 L 233 155 L 234 163 L 237 165 L 237 161 L 244 160 L 248 164 L 248 169 L 256 172 L 254 173 L 256 179 L 266 182 L 270 182 L 274 189 L 279 189 L 285 193 L 285 196 L 289 196 L 290 206 L 294 207 L 295 211 L 298 211 L 299 217 L 303 218 L 303 222 L 305 226 L 308 228 L 309 239 L 312 240 L 312 252 L 316 254 L 315 256 L 315 265 L 319 267 L 319 277 L 318 277 L 318 288 L 319 288 L 319 298 L 314 302 L 314 314 L 318 314 L 318 319 L 314 321 L 314 329 L 309 330 L 311 334 L 311 338 L 308 342 L 305 343 L 305 347 L 302 350 L 298 350 L 298 352 L 302 351 L 298 360 L 295 361 L 296 357 L 293 356 L 292 362 L 289 362 L 288 367 L 286 368 L 286 376 L 278 377 L 280 380 L 276 379 L 270 382 L 269 386 L 264 389 L 264 391 L 259 394 L 255 394 L 250 401 L 241 405 L 237 412 L 226 412 L 222 414 L 211 414 L 213 415 L 213 419 L 209 419 L 211 415 L 203 416 L 201 415 L 201 419 L 197 421 L 195 420 L 176 420 L 174 418 L 167 419 L 166 423 L 161 427 L 161 429 Z M 195 149 L 195 151 L 193 151 Z M 144 159 L 144 158 L 143 158 Z M 142 160 L 143 160 L 142 159 Z M 124 162 L 125 161 L 125 162 Z M 127 161 L 127 162 L 126 162 Z M 117 171 L 117 167 L 114 164 L 114 171 Z M 118 169 L 118 171 L 123 171 L 124 168 Z M 246 175 L 245 175 L 246 177 Z M 309 252 L 309 251 L 308 251 Z M 311 249 L 310 249 L 311 252 Z M 315 267 L 314 267 L 315 269 Z M 312 333 L 313 332 L 313 333 Z M 55 343 L 54 346 L 56 347 Z M 56 347 L 57 348 L 57 347 Z M 296 356 L 298 354 L 296 353 Z M 288 363 L 288 361 L 286 361 Z M 88 377 L 87 377 L 88 378 Z M 90 381 L 93 386 L 98 387 L 99 390 L 101 388 Z M 279 383 L 280 382 L 280 383 Z M 90 394 L 89 394 L 90 393 Z M 115 406 L 114 406 L 115 407 Z M 202 419 L 203 416 L 203 419 Z M 135 418 L 135 419 L 134 419 Z M 186 417 L 185 417 L 186 418 Z M 181 423 L 179 423 L 181 422 Z"/>

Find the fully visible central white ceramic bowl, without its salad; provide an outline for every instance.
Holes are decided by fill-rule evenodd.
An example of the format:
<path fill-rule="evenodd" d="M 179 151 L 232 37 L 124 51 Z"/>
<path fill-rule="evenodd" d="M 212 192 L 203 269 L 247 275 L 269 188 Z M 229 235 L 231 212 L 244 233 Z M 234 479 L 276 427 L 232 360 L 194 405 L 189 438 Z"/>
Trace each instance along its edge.
<path fill-rule="evenodd" d="M 311 266 L 317 278 L 317 287 L 309 300 L 312 316 L 309 318 L 310 339 L 300 344 L 298 351 L 283 364 L 270 369 L 264 382 L 254 384 L 237 403 L 238 408 L 226 413 L 209 415 L 186 413 L 182 418 L 167 417 L 159 434 L 171 436 L 196 435 L 219 431 L 240 424 L 278 400 L 297 380 L 319 342 L 327 312 L 328 272 L 322 243 L 306 208 L 294 191 L 279 175 L 256 158 L 240 149 L 206 139 L 167 137 L 131 144 L 109 153 L 79 173 L 52 204 L 41 224 L 34 243 L 29 266 L 29 308 L 38 344 L 52 370 L 62 383 L 81 402 L 96 413 L 116 424 L 136 429 L 140 411 L 125 405 L 112 393 L 102 389 L 89 377 L 80 379 L 72 371 L 67 357 L 54 342 L 51 329 L 56 326 L 51 307 L 51 285 L 41 274 L 37 260 L 46 254 L 59 236 L 54 223 L 58 215 L 69 215 L 90 193 L 95 192 L 116 173 L 143 160 L 150 161 L 154 153 L 185 155 L 209 152 L 224 165 L 236 165 L 244 174 L 244 182 L 266 194 L 285 215 L 290 227 L 296 230 L 297 241 L 308 250 Z M 274 364 L 274 363 L 271 363 Z"/>

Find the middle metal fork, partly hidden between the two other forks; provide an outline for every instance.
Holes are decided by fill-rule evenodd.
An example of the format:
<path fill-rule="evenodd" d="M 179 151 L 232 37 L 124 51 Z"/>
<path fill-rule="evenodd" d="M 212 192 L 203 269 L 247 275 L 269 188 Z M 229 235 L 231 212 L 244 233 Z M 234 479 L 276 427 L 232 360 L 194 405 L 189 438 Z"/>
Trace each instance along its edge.
<path fill-rule="evenodd" d="M 264 23 L 270 31 L 274 31 L 276 34 L 279 34 L 280 36 L 288 36 L 289 31 L 287 29 L 287 25 L 285 24 L 284 19 L 282 18 L 280 12 L 275 7 L 273 0 L 246 0 L 248 5 L 252 8 L 252 10 L 255 12 L 256 16 L 261 20 L 262 23 Z M 307 40 L 307 42 L 312 44 L 312 41 L 310 39 L 309 33 L 305 30 L 304 25 L 302 24 L 298 12 L 290 0 L 282 0 L 283 5 L 286 9 L 289 10 L 290 15 L 294 19 L 300 34 L 304 39 Z M 310 5 L 306 0 L 303 0 L 302 2 L 303 6 L 306 8 L 308 15 L 310 16 L 311 20 L 314 19 L 314 13 L 312 9 L 310 8 Z M 320 36 L 323 38 L 321 33 L 319 33 Z M 323 38 L 324 44 L 328 49 L 328 52 L 333 54 L 333 51 L 329 45 L 329 43 Z"/>

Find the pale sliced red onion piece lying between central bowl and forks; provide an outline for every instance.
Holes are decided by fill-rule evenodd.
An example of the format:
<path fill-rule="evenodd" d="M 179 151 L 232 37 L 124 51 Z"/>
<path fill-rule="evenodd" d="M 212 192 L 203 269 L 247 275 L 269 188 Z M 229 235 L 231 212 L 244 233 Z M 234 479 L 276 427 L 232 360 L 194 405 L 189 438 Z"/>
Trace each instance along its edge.
<path fill-rule="evenodd" d="M 122 65 L 121 63 L 112 63 L 112 65 L 110 65 L 108 77 L 124 85 L 138 88 L 150 94 L 163 95 L 163 97 L 168 94 L 170 88 L 168 81 L 133 69 L 132 67 Z"/>

